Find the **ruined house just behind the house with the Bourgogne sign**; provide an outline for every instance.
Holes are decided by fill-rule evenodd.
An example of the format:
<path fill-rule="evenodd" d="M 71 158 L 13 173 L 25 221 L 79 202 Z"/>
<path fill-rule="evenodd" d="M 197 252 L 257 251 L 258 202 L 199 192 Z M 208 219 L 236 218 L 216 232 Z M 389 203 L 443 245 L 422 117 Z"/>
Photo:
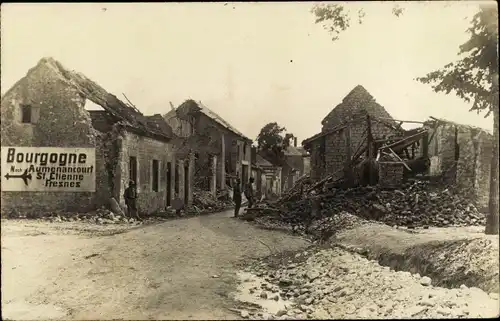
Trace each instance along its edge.
<path fill-rule="evenodd" d="M 214 195 L 231 185 L 231 178 L 247 182 L 251 175 L 252 140 L 202 102 L 186 100 L 164 116 L 174 132 L 187 138 L 195 153 L 195 184 Z"/>

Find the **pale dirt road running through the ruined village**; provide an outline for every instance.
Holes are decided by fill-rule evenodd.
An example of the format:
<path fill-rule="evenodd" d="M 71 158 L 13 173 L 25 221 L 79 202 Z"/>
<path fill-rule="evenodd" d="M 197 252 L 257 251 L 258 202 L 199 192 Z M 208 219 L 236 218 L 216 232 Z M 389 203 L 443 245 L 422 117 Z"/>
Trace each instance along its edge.
<path fill-rule="evenodd" d="M 240 262 L 308 243 L 230 216 L 100 237 L 2 221 L 3 318 L 234 319 L 227 308 Z"/>

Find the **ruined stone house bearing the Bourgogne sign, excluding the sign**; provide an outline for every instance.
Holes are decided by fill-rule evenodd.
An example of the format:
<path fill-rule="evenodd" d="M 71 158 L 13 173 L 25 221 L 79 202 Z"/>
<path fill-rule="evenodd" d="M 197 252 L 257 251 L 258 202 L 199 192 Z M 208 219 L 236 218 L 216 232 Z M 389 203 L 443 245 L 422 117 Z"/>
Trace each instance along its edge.
<path fill-rule="evenodd" d="M 91 101 L 103 108 L 87 111 Z M 128 181 L 137 182 L 139 211 L 164 210 L 174 193 L 175 172 L 170 127 L 145 117 L 135 107 L 52 58 L 43 58 L 2 97 L 2 146 L 90 147 L 96 151 L 95 192 L 6 192 L 2 213 L 87 211 L 124 206 Z M 183 173 L 181 171 L 181 173 Z M 188 174 L 190 177 L 191 173 Z M 187 180 L 186 180 L 187 181 Z M 190 200 L 191 196 L 186 195 Z"/>

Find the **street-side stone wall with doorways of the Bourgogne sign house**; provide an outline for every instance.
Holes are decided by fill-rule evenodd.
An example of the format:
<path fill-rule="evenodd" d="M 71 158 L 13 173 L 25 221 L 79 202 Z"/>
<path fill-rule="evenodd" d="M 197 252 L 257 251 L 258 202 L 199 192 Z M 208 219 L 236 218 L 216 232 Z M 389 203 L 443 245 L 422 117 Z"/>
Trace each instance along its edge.
<path fill-rule="evenodd" d="M 173 146 L 151 138 L 139 136 L 126 132 L 122 139 L 120 151 L 120 203 L 125 204 L 123 192 L 128 185 L 129 177 L 129 159 L 137 159 L 137 192 L 138 209 L 141 214 L 151 214 L 157 211 L 163 211 L 167 206 L 167 163 L 171 164 L 171 196 L 175 195 L 175 170 L 179 170 L 179 198 L 184 200 L 184 160 L 176 160 Z M 159 161 L 159 180 L 158 191 L 153 191 L 153 160 Z M 189 161 L 189 182 L 187 188 L 189 191 L 188 202 L 192 202 L 192 175 L 194 160 Z"/>

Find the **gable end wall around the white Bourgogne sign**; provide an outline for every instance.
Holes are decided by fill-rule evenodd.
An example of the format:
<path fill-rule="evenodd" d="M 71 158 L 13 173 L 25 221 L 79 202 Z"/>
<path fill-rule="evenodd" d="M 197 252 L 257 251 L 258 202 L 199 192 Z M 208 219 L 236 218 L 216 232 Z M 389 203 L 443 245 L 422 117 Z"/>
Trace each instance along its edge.
<path fill-rule="evenodd" d="M 97 147 L 96 169 L 104 166 L 103 152 L 96 146 L 97 132 L 84 110 L 85 98 L 56 70 L 40 62 L 30 69 L 3 97 L 2 146 Z M 22 123 L 22 106 L 31 107 L 31 122 Z M 96 188 L 109 193 L 99 184 Z M 47 211 L 84 211 L 102 205 L 102 196 L 91 192 L 2 192 L 2 215 L 15 209 L 28 215 Z"/>

